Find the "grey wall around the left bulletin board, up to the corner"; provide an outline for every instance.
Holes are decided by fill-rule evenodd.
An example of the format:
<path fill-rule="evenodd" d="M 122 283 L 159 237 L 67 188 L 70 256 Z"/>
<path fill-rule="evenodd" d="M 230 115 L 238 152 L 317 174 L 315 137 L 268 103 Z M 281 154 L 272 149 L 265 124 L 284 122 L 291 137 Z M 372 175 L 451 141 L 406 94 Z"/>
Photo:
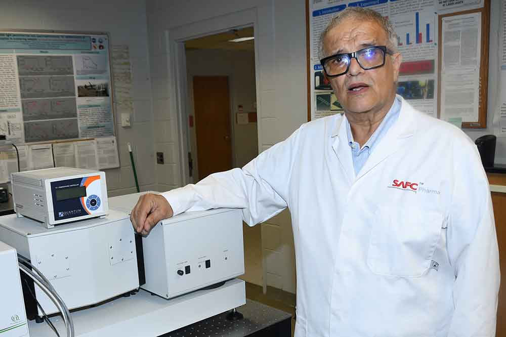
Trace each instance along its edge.
<path fill-rule="evenodd" d="M 121 167 L 105 170 L 107 189 L 110 196 L 136 192 L 127 142 L 133 146 L 141 188 L 156 188 L 146 2 L 4 0 L 1 8 L 0 26 L 4 29 L 108 32 L 112 45 L 130 47 L 135 112 L 131 118 L 132 127 L 123 129 L 121 118 L 117 117 L 121 111 L 116 111 Z"/>

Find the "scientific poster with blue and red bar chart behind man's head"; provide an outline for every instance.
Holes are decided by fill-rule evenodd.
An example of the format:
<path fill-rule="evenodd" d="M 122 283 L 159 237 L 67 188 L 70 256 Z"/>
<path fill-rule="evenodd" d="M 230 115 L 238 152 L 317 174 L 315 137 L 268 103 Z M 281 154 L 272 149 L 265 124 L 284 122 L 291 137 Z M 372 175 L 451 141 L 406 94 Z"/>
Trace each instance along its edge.
<path fill-rule="evenodd" d="M 397 33 L 398 51 L 403 58 L 397 93 L 416 109 L 436 117 L 438 14 L 481 8 L 483 0 L 309 1 L 311 119 L 343 112 L 324 76 L 318 49 L 325 26 L 336 13 L 347 7 L 370 8 L 389 18 Z"/>

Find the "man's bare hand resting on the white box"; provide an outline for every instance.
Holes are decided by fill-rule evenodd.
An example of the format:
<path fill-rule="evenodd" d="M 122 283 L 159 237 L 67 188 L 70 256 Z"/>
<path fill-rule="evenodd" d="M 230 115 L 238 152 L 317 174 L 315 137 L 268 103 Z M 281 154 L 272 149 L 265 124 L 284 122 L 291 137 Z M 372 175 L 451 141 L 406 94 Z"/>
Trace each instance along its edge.
<path fill-rule="evenodd" d="M 137 233 L 147 235 L 158 221 L 171 218 L 174 215 L 172 206 L 159 194 L 146 193 L 132 209 L 130 221 Z"/>

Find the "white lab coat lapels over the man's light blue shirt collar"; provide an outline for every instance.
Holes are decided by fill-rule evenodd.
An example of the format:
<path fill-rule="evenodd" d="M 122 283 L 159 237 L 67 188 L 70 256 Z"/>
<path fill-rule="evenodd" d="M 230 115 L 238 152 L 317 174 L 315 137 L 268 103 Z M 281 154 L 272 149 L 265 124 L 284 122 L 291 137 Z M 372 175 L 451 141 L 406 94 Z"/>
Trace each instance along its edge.
<path fill-rule="evenodd" d="M 378 143 L 374 151 L 372 151 L 362 167 L 362 170 L 360 170 L 357 175 L 355 175 L 351 148 L 348 144 L 345 121 L 346 115 L 343 115 L 341 118 L 336 118 L 331 136 L 334 138 L 332 148 L 342 164 L 343 170 L 351 184 L 372 170 L 374 166 L 382 162 L 389 155 L 397 151 L 397 149 L 404 144 L 406 138 L 415 134 L 416 123 L 414 122 L 414 116 L 416 110 L 414 110 L 402 97 L 397 97 L 401 100 L 401 110 L 397 121 L 392 125 L 390 130 L 388 130 L 385 137 Z"/>

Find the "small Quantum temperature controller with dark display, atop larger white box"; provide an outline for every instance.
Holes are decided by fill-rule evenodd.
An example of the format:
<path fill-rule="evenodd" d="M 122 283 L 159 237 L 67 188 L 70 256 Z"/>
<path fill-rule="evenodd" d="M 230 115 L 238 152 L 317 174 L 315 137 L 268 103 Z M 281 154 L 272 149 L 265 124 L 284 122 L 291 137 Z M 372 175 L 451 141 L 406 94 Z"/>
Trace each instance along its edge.
<path fill-rule="evenodd" d="M 14 207 L 18 216 L 42 222 L 47 228 L 108 213 L 105 173 L 55 167 L 12 174 Z"/>

